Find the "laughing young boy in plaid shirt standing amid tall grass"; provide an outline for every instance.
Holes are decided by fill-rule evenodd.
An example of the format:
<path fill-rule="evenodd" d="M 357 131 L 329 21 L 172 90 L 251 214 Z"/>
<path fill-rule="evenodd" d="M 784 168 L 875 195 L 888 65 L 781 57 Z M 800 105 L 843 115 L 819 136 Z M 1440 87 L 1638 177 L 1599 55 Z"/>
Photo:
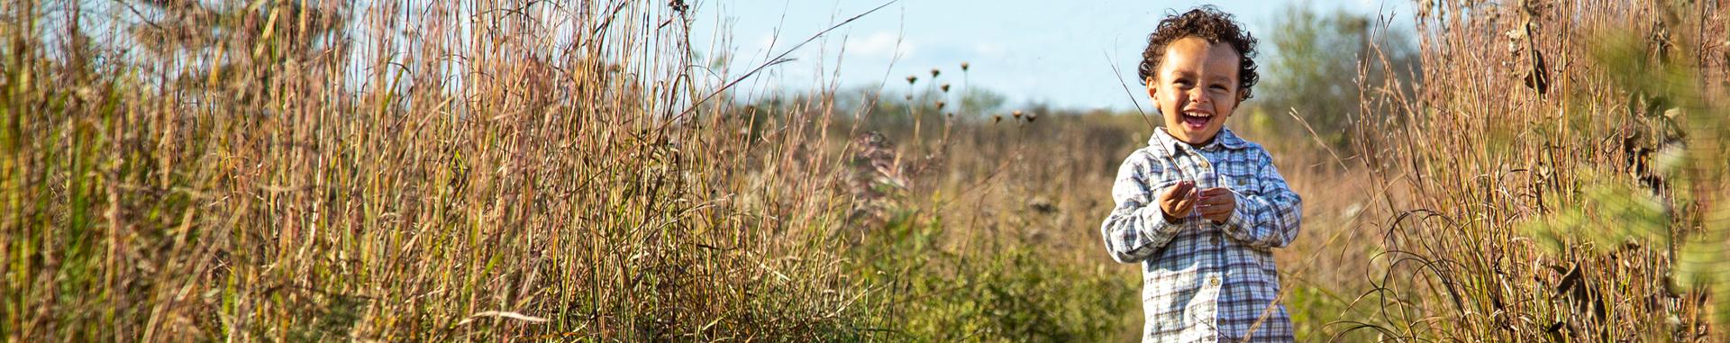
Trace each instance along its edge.
<path fill-rule="evenodd" d="M 1142 263 L 1142 341 L 1291 341 L 1273 248 L 1298 236 L 1301 201 L 1268 151 L 1225 128 L 1256 85 L 1256 38 L 1199 7 L 1159 21 L 1140 76 L 1164 128 L 1130 154 L 1100 225 L 1105 249 Z"/>

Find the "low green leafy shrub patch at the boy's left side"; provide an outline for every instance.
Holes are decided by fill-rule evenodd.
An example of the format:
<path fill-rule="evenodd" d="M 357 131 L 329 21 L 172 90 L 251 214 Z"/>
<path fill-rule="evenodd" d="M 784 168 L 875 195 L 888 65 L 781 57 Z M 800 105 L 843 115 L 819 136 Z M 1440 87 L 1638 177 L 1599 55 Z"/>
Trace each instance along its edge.
<path fill-rule="evenodd" d="M 1137 327 L 1135 279 L 1066 263 L 1010 237 L 960 237 L 901 215 L 855 248 L 858 274 L 887 293 L 884 322 L 919 341 L 1107 341 Z M 945 239 L 979 239 L 945 249 Z M 1133 333 L 1133 331 L 1131 331 Z"/>

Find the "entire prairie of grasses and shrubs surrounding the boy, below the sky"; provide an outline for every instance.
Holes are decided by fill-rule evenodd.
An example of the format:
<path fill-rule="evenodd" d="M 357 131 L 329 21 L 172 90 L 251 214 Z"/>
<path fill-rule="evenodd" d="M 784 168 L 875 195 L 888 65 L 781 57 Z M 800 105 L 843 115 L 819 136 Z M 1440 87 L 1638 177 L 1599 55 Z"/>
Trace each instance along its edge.
<path fill-rule="evenodd" d="M 0 340 L 1138 340 L 1100 220 L 1159 114 L 758 88 L 704 9 L 0 3 Z M 1227 125 L 1304 199 L 1298 340 L 1730 340 L 1730 10 L 1413 9 L 1284 21 L 1362 45 Z"/>

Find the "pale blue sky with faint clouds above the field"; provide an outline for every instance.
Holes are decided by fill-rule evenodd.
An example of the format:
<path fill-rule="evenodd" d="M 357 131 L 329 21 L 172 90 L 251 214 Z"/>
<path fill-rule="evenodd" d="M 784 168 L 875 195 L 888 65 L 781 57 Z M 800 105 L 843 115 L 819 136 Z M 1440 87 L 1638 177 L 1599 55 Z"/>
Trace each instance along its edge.
<path fill-rule="evenodd" d="M 734 52 L 740 74 L 794 43 L 887 0 L 718 0 L 695 2 L 692 45 L 706 57 Z M 1123 83 L 1138 87 L 1135 64 L 1145 36 L 1168 10 L 1209 2 L 1190 0 L 901 0 L 804 45 L 765 74 L 740 83 L 746 94 L 804 92 L 823 85 L 879 87 L 905 92 L 907 74 L 1003 94 L 1010 104 L 1047 102 L 1074 109 L 1133 109 Z M 1218 2 L 1263 40 L 1278 10 L 1379 10 L 1410 17 L 1408 2 Z M 1410 19 L 1406 19 L 1410 23 Z M 728 33 L 728 35 L 716 35 Z M 713 45 L 713 47 L 711 47 Z M 839 54 L 846 49 L 846 54 Z M 1263 47 L 1263 55 L 1272 54 Z M 1112 62 L 1114 61 L 1114 62 Z M 1112 64 L 1123 73 L 1112 73 Z M 747 95 L 749 97 L 749 95 Z M 1137 99 L 1144 102 L 1145 99 Z"/>

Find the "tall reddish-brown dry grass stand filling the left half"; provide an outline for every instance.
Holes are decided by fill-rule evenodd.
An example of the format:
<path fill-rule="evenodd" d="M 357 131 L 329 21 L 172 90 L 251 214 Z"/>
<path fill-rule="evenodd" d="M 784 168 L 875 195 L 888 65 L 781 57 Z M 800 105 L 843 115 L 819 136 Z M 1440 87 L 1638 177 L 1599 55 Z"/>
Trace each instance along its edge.
<path fill-rule="evenodd" d="M 0 5 L 0 333 L 872 334 L 822 243 L 844 206 L 808 175 L 836 163 L 734 133 L 689 10 Z"/>

